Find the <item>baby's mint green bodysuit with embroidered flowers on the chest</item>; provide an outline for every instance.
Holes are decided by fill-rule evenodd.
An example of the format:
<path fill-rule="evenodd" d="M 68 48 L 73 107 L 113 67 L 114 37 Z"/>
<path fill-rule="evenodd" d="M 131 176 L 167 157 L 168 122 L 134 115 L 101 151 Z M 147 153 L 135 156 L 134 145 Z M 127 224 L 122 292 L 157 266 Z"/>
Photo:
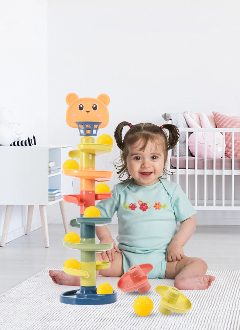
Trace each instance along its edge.
<path fill-rule="evenodd" d="M 113 217 L 117 211 L 118 248 L 123 255 L 123 269 L 151 263 L 148 277 L 164 278 L 166 249 L 177 233 L 177 221 L 196 213 L 179 184 L 160 179 L 140 186 L 129 180 L 114 185 L 112 197 L 96 204 L 102 216 Z"/>

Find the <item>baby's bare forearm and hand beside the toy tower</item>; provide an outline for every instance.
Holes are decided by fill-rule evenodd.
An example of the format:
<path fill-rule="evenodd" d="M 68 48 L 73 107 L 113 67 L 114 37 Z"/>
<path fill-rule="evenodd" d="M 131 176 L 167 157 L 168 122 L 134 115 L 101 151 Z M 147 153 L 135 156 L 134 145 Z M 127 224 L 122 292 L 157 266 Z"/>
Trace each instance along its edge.
<path fill-rule="evenodd" d="M 105 259 L 105 255 L 107 253 L 109 261 L 112 262 L 115 259 L 115 251 L 119 253 L 121 253 L 121 251 L 119 250 L 114 239 L 112 238 L 107 225 L 96 226 L 95 228 L 96 228 L 96 235 L 100 240 L 100 243 L 113 243 L 113 247 L 111 250 L 102 252 L 102 258 Z"/>

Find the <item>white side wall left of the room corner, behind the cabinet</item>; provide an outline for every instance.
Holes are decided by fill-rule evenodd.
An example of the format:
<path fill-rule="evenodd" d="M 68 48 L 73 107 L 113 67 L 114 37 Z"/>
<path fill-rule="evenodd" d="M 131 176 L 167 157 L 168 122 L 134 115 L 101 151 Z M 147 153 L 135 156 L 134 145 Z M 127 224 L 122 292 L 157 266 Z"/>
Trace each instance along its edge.
<path fill-rule="evenodd" d="M 47 0 L 2 1 L 0 40 L 0 107 L 20 119 L 38 146 L 47 145 Z M 0 205 L 0 234 L 5 208 Z M 13 208 L 8 241 L 24 234 L 26 214 L 26 206 Z M 37 209 L 32 228 L 40 226 Z"/>

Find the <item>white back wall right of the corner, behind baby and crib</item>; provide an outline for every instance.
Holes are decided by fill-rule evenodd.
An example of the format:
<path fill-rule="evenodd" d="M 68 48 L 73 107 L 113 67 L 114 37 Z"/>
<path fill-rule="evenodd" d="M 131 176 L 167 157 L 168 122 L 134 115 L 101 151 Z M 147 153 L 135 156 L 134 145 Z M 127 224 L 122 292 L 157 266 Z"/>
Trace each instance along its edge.
<path fill-rule="evenodd" d="M 78 130 L 65 123 L 69 92 L 110 96 L 109 124 L 99 134 L 111 136 L 123 120 L 160 125 L 164 112 L 237 115 L 237 9 L 237 0 L 49 0 L 49 142 L 80 141 Z M 112 154 L 97 157 L 96 168 L 115 173 L 110 162 L 118 155 L 114 144 Z M 110 187 L 117 182 L 114 174 Z M 56 208 L 49 208 L 53 217 Z M 72 205 L 67 212 L 76 216 Z M 61 220 L 55 216 L 54 221 Z"/>

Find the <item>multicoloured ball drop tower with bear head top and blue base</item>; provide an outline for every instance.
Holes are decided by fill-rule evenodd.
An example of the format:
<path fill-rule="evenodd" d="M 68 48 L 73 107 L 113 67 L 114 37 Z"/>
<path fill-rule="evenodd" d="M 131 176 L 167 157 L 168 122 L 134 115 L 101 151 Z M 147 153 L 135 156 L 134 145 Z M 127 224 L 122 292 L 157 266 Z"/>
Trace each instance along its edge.
<path fill-rule="evenodd" d="M 111 218 L 84 217 L 84 210 L 95 206 L 96 200 L 111 197 L 111 193 L 95 193 L 95 181 L 109 181 L 113 172 L 95 170 L 95 156 L 106 155 L 112 151 L 112 145 L 95 143 L 94 136 L 98 129 L 108 124 L 109 97 L 100 94 L 97 98 L 79 98 L 77 94 L 66 96 L 68 109 L 66 122 L 70 127 L 78 128 L 81 136 L 78 150 L 69 151 L 71 158 L 80 159 L 80 169 L 63 169 L 63 174 L 80 179 L 79 195 L 63 195 L 67 203 L 80 206 L 80 216 L 70 221 L 72 227 L 80 228 L 80 243 L 63 241 L 67 248 L 81 251 L 80 270 L 63 267 L 63 271 L 73 276 L 81 277 L 79 290 L 66 291 L 60 294 L 60 302 L 72 305 L 103 305 L 117 301 L 117 293 L 97 294 L 96 271 L 107 269 L 110 262 L 96 261 L 96 251 L 106 251 L 113 247 L 113 243 L 95 244 L 95 224 L 107 224 Z"/>

